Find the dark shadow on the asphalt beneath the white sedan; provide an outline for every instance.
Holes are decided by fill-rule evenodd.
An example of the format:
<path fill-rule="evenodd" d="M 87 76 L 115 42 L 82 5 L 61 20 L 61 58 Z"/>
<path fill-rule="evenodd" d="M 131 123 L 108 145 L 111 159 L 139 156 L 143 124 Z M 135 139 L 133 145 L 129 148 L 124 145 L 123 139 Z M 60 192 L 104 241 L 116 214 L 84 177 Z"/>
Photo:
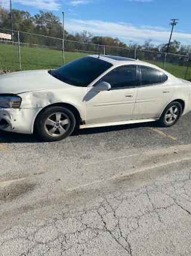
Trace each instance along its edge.
<path fill-rule="evenodd" d="M 99 134 L 103 132 L 112 132 L 112 131 L 122 131 L 125 129 L 134 129 L 141 127 L 152 127 L 159 128 L 161 127 L 158 122 L 146 122 L 140 124 L 130 124 L 130 125 L 115 125 L 111 127 L 97 127 L 97 128 L 85 128 L 85 129 L 75 129 L 71 137 L 87 134 Z M 0 143 L 48 143 L 47 141 L 42 140 L 38 137 L 37 134 L 19 134 L 15 132 L 7 132 L 0 130 Z M 50 143 L 50 142 L 49 142 Z M 56 143 L 56 142 L 51 142 Z"/>

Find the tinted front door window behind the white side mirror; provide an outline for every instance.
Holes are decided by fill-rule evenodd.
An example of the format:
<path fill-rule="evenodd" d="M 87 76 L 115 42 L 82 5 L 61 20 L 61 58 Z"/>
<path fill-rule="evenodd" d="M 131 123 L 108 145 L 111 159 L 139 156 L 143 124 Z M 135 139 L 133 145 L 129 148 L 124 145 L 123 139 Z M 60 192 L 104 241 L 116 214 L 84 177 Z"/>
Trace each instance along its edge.
<path fill-rule="evenodd" d="M 110 83 L 112 88 L 132 87 L 135 86 L 136 66 L 128 65 L 115 68 L 109 74 L 102 77 L 101 82 Z"/>

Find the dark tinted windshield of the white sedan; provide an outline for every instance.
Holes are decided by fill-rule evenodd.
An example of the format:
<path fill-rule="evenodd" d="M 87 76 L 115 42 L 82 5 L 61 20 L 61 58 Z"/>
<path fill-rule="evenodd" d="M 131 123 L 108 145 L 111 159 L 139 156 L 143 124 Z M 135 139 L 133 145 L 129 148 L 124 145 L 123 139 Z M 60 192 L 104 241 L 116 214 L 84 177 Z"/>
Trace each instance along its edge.
<path fill-rule="evenodd" d="M 86 87 L 110 67 L 109 62 L 84 57 L 48 73 L 69 85 Z"/>

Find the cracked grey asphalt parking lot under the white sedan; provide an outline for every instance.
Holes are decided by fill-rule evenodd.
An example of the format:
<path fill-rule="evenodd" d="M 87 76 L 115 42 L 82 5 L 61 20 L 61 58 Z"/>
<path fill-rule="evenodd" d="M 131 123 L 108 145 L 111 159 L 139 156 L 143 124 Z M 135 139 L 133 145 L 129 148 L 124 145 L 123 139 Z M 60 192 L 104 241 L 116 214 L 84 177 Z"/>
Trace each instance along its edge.
<path fill-rule="evenodd" d="M 0 132 L 0 255 L 191 255 L 190 120 Z"/>

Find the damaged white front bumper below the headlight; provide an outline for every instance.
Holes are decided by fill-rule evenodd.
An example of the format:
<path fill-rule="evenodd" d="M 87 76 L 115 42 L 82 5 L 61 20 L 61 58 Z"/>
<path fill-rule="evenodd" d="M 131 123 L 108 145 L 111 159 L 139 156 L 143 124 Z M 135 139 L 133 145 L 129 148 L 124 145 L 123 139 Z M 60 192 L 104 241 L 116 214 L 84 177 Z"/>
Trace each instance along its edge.
<path fill-rule="evenodd" d="M 41 108 L 0 109 L 0 129 L 32 134 L 35 118 L 40 110 Z"/>

